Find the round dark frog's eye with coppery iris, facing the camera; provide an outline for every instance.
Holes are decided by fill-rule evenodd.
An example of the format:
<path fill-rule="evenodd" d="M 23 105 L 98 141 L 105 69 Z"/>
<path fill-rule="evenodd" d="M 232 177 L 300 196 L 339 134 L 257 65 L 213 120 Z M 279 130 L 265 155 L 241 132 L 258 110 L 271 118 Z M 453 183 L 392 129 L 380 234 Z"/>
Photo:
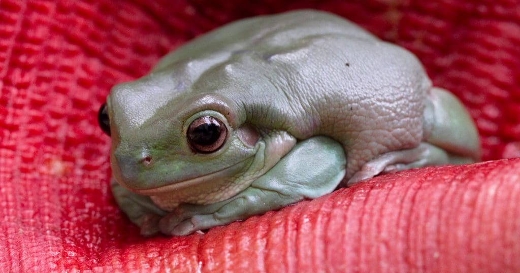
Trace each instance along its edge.
<path fill-rule="evenodd" d="M 227 138 L 227 128 L 213 116 L 201 116 L 191 122 L 187 132 L 188 144 L 200 153 L 218 150 Z"/>

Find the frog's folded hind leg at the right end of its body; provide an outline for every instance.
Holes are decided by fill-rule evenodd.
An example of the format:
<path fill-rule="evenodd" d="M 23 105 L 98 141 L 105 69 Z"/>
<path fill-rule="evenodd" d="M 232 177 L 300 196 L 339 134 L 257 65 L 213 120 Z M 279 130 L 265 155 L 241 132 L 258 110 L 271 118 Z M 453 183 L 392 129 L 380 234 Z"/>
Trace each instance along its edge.
<path fill-rule="evenodd" d="M 365 163 L 347 186 L 376 175 L 410 168 L 468 164 L 479 160 L 475 125 L 460 101 L 444 89 L 432 88 L 424 111 L 425 138 L 418 147 L 392 151 Z"/>

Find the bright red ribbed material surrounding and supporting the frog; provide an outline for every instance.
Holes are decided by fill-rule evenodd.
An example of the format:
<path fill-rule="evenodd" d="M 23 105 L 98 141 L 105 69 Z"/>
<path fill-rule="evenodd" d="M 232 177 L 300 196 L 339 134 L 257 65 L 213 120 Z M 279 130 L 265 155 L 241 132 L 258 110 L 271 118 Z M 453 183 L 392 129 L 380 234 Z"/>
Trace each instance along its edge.
<path fill-rule="evenodd" d="M 484 159 L 376 177 L 188 237 L 110 194 L 110 87 L 225 22 L 314 7 L 405 46 L 470 109 Z M 0 271 L 520 271 L 520 3 L 0 2 Z M 174 271 L 175 271 L 174 270 Z"/>

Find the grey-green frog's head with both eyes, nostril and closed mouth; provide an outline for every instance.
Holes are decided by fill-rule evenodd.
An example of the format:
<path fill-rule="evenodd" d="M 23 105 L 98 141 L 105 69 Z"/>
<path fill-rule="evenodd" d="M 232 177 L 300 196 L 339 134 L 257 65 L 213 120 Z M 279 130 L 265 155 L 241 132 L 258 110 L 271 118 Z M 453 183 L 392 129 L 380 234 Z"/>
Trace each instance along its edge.
<path fill-rule="evenodd" d="M 100 126 L 112 138 L 118 183 L 156 195 L 218 181 L 229 185 L 223 180 L 254 171 L 265 145 L 244 122 L 241 106 L 170 81 L 151 74 L 116 85 L 99 110 Z"/>

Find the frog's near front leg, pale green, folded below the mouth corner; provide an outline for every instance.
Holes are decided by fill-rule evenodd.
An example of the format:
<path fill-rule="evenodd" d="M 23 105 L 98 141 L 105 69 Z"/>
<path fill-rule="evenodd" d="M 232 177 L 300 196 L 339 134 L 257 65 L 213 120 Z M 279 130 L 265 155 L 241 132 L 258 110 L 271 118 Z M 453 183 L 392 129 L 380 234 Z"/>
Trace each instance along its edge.
<path fill-rule="evenodd" d="M 210 205 L 181 204 L 163 217 L 160 230 L 188 235 L 332 192 L 345 175 L 342 146 L 317 136 L 298 142 L 266 174 L 236 196 Z"/>

